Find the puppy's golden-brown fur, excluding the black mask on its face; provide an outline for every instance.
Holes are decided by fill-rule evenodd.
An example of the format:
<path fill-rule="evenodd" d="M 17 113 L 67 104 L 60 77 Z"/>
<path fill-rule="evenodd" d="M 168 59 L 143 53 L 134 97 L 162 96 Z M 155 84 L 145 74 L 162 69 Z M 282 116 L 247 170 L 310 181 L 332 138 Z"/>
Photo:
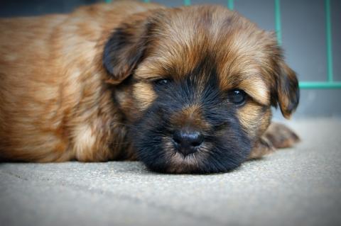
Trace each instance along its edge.
<path fill-rule="evenodd" d="M 297 82 L 281 59 L 274 35 L 218 6 L 186 10 L 118 2 L 81 7 L 67 15 L 1 19 L 0 159 L 135 159 L 126 132 L 156 99 L 150 81 L 169 74 L 180 80 L 209 52 L 215 52 L 220 89 L 239 87 L 251 96 L 238 111 L 242 127 L 254 140 L 251 158 L 267 153 L 272 146 L 261 145 L 261 135 L 270 124 L 269 106 L 278 98 L 283 115 L 289 117 L 294 107 L 285 84 Z M 146 36 L 146 18 L 156 25 L 153 38 L 143 50 L 144 60 L 129 63 L 127 59 L 146 45 L 141 39 Z M 117 53 L 117 67 L 109 76 L 102 55 L 114 28 L 131 34 L 132 44 Z M 138 82 L 117 86 L 132 73 Z M 113 89 L 119 103 L 112 100 Z M 193 106 L 173 117 L 181 125 L 193 120 L 199 127 L 209 126 L 200 120 L 200 108 Z M 274 147 L 293 144 L 291 137 L 267 137 L 276 140 Z M 285 145 L 278 145 L 278 140 Z M 173 161 L 177 171 L 178 162 Z M 188 159 L 189 166 L 197 164 L 193 161 Z"/>

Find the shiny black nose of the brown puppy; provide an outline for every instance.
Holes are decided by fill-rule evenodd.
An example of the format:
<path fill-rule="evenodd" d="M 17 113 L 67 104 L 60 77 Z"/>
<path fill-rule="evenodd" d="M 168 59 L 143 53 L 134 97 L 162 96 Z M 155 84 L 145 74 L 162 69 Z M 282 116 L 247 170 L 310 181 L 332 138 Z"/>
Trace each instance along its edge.
<path fill-rule="evenodd" d="M 198 131 L 177 130 L 173 134 L 175 148 L 178 152 L 188 155 L 197 151 L 204 141 L 203 135 Z"/>

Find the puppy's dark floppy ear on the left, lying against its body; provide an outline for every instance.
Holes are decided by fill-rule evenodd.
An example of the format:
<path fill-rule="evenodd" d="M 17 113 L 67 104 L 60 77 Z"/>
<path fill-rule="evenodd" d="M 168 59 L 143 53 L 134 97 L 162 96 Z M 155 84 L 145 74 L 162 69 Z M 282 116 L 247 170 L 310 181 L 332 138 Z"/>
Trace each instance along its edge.
<path fill-rule="evenodd" d="M 104 46 L 103 65 L 110 74 L 110 84 L 119 84 L 134 72 L 144 57 L 148 42 L 148 15 L 134 16 L 115 28 Z M 131 21 L 131 22 L 130 22 Z"/>

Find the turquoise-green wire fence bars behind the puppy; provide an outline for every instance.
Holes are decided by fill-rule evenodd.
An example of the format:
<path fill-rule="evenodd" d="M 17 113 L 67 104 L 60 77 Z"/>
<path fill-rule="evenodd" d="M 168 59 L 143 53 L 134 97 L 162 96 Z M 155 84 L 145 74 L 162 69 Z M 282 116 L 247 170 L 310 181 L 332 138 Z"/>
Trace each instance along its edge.
<path fill-rule="evenodd" d="M 236 0 L 237 1 L 237 0 Z M 106 0 L 110 2 L 110 0 Z M 150 0 L 144 0 L 150 2 Z M 191 4 L 190 0 L 183 0 L 185 6 Z M 278 45 L 282 44 L 281 30 L 281 1 L 274 0 L 275 5 L 275 25 Z M 234 0 L 227 0 L 227 7 L 234 10 Z M 326 39 L 326 57 L 327 57 L 327 78 L 325 81 L 300 81 L 301 89 L 341 89 L 341 81 L 334 81 L 332 72 L 332 23 L 330 12 L 330 0 L 325 0 L 325 39 Z"/>

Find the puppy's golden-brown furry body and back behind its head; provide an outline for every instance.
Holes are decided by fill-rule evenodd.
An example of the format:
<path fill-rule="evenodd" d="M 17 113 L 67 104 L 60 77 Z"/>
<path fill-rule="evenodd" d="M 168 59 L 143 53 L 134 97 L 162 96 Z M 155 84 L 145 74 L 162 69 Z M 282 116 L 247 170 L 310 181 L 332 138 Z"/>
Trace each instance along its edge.
<path fill-rule="evenodd" d="M 106 136 L 108 142 L 110 131 L 97 130 L 105 130 L 115 112 L 94 116 L 113 108 L 102 87 L 103 44 L 129 15 L 158 7 L 121 1 L 65 15 L 0 19 L 0 159 L 112 157 L 97 142 Z M 100 147 L 107 154 L 96 154 Z"/>

